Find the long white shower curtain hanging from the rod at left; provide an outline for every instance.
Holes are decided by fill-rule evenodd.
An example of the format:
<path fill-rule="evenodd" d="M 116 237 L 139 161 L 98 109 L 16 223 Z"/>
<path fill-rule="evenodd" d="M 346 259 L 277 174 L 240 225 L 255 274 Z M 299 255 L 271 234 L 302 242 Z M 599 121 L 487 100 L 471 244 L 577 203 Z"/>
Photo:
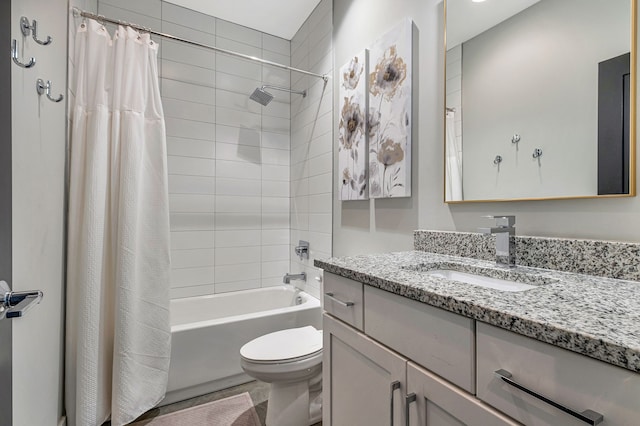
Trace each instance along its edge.
<path fill-rule="evenodd" d="M 67 261 L 70 426 L 131 422 L 162 400 L 171 350 L 169 201 L 157 49 L 77 31 Z"/>

